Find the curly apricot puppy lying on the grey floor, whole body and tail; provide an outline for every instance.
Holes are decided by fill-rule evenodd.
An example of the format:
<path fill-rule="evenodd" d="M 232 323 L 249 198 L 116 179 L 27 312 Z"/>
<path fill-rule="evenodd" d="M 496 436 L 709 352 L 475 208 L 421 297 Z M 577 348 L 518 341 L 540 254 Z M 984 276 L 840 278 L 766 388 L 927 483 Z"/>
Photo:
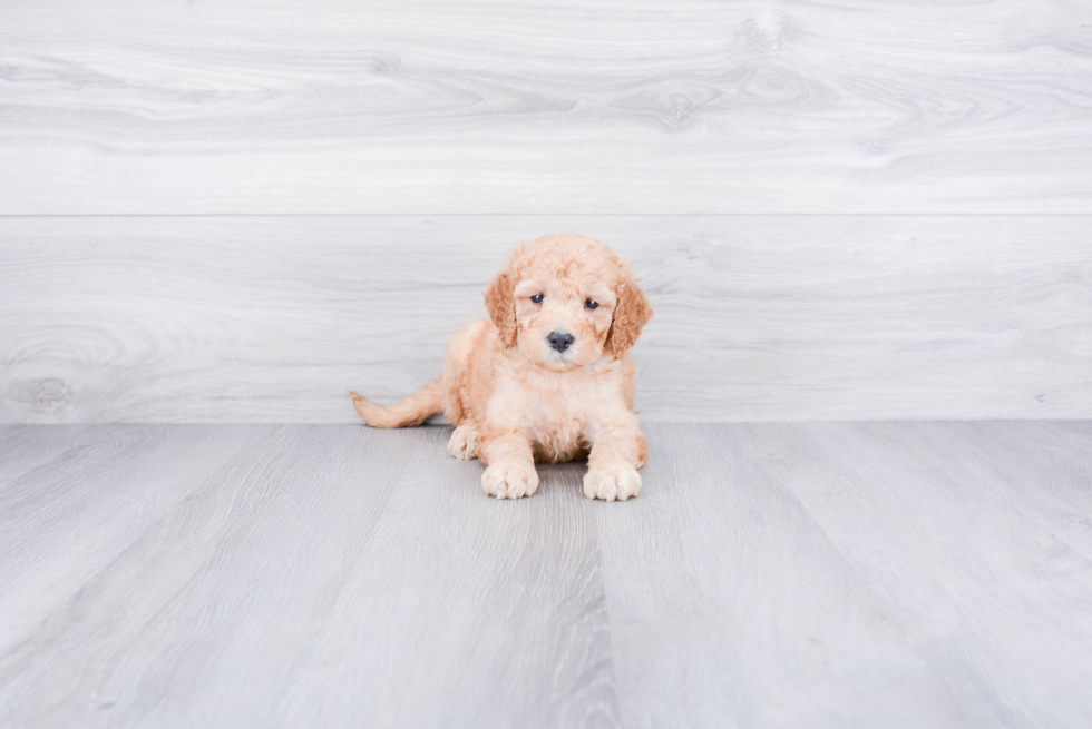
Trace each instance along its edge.
<path fill-rule="evenodd" d="M 630 348 L 652 308 L 630 265 L 597 240 L 545 236 L 513 250 L 485 298 L 491 321 L 456 332 L 443 376 L 386 408 L 350 391 L 357 413 L 402 427 L 442 412 L 456 426 L 448 452 L 481 459 L 481 487 L 497 499 L 535 493 L 536 459 L 583 455 L 588 499 L 641 493 L 647 444 Z"/>

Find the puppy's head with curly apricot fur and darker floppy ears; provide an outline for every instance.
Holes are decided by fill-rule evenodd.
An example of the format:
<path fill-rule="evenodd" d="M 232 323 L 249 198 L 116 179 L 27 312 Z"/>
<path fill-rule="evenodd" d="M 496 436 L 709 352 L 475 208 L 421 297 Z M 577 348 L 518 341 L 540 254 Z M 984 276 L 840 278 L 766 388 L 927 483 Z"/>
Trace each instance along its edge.
<path fill-rule="evenodd" d="M 563 372 L 621 358 L 652 317 L 630 265 L 605 245 L 550 235 L 516 248 L 486 290 L 505 347 Z"/>

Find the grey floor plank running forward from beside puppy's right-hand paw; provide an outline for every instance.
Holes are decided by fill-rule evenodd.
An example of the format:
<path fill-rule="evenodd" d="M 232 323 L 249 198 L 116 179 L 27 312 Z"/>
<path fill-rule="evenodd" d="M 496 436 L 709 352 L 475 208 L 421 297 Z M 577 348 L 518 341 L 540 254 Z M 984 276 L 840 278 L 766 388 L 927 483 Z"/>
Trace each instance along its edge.
<path fill-rule="evenodd" d="M 620 693 L 645 697 L 626 726 L 976 726 L 910 617 L 784 485 L 797 439 L 829 427 L 653 430 L 651 491 L 597 514 Z"/>

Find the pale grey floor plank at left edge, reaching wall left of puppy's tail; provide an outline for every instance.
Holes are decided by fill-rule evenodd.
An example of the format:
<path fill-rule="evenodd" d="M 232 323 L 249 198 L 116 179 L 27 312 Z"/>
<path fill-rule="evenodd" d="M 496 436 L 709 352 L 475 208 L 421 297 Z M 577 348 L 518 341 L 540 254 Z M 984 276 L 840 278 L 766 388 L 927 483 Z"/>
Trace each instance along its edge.
<path fill-rule="evenodd" d="M 7 609 L 0 650 L 12 647 L 25 620 L 40 620 L 78 594 L 88 577 L 204 479 L 223 475 L 216 469 L 240 453 L 243 435 L 251 434 L 223 427 L 76 430 L 62 454 L 8 480 L 0 492 L 0 592 Z M 74 482 L 84 487 L 71 489 Z"/>

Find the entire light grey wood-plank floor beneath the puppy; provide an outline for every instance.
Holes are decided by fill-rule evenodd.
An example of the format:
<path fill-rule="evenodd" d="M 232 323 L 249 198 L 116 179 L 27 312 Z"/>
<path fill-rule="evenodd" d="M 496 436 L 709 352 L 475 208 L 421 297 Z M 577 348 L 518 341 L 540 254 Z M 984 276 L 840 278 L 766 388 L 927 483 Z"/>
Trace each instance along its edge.
<path fill-rule="evenodd" d="M 1086 727 L 1092 423 L 0 428 L 0 726 Z"/>

